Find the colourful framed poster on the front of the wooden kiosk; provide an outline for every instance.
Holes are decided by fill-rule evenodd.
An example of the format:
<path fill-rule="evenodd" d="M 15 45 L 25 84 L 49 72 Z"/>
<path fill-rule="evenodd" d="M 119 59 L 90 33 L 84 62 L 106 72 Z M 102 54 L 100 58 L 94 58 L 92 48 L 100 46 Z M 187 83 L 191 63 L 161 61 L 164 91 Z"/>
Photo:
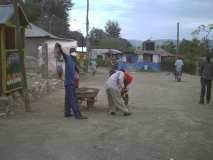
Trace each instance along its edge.
<path fill-rule="evenodd" d="M 6 54 L 6 92 L 22 88 L 22 73 L 20 54 L 9 52 Z"/>

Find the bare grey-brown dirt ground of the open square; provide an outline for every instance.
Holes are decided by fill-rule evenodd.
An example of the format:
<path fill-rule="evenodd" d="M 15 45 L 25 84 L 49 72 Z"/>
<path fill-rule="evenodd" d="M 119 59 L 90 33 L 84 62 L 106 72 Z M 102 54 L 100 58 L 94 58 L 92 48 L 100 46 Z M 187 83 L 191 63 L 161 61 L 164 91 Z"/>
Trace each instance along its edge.
<path fill-rule="evenodd" d="M 212 160 L 213 103 L 199 105 L 199 77 L 133 73 L 132 116 L 107 114 L 106 72 L 81 86 L 101 89 L 88 120 L 63 117 L 63 87 L 33 112 L 0 119 L 1 160 Z"/>

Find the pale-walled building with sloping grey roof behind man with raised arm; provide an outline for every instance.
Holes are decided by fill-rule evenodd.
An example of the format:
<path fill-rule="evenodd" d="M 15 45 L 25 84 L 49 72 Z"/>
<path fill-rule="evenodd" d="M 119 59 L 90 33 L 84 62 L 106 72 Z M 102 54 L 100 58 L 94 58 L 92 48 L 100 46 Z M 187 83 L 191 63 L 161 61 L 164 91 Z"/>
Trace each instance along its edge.
<path fill-rule="evenodd" d="M 57 64 L 63 63 L 63 59 L 57 58 L 56 43 L 60 43 L 63 50 L 67 53 L 71 47 L 77 48 L 76 40 L 54 36 L 34 24 L 31 24 L 26 30 L 25 43 L 26 61 L 28 62 L 27 70 L 30 72 L 39 72 L 42 68 L 42 57 L 45 57 L 42 53 L 46 50 L 48 53 L 47 67 L 50 74 L 55 74 Z"/>

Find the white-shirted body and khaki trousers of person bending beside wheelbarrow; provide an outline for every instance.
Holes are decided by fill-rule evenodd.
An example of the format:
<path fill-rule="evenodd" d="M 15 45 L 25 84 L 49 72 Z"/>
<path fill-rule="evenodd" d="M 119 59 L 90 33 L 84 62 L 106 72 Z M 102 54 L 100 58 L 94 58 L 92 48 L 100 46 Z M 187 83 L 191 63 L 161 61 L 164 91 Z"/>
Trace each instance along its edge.
<path fill-rule="evenodd" d="M 117 110 L 121 111 L 124 116 L 131 115 L 121 96 L 121 91 L 124 89 L 124 72 L 124 70 L 116 71 L 106 81 L 106 93 L 111 115 L 115 115 Z"/>

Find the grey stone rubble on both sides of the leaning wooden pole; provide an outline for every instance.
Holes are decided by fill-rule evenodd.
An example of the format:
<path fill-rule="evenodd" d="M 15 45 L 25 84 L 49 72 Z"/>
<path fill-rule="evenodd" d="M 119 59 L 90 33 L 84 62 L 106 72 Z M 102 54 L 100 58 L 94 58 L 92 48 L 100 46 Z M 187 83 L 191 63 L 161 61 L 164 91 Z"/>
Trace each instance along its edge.
<path fill-rule="evenodd" d="M 27 80 L 30 102 L 35 102 L 55 89 L 63 87 L 62 80 L 56 78 L 44 79 L 36 73 L 28 73 Z M 0 117 L 13 115 L 19 109 L 23 110 L 23 102 L 20 92 L 14 92 L 9 96 L 0 96 Z"/>

